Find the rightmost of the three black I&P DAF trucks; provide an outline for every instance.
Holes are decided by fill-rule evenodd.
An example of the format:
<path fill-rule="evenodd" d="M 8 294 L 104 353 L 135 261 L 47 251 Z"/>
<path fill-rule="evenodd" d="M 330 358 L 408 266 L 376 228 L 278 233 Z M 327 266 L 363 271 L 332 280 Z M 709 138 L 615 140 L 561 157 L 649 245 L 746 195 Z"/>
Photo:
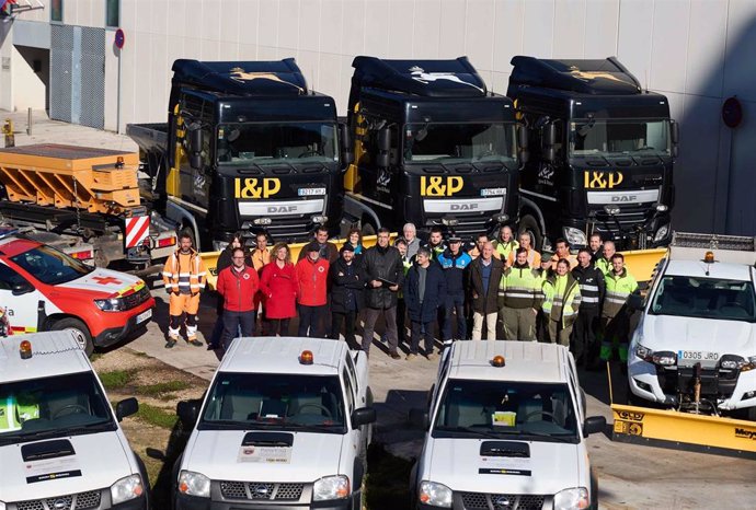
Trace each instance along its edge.
<path fill-rule="evenodd" d="M 572 247 L 593 232 L 619 250 L 665 246 L 675 201 L 677 125 L 615 58 L 514 57 L 507 95 L 528 131 L 519 230 Z"/>

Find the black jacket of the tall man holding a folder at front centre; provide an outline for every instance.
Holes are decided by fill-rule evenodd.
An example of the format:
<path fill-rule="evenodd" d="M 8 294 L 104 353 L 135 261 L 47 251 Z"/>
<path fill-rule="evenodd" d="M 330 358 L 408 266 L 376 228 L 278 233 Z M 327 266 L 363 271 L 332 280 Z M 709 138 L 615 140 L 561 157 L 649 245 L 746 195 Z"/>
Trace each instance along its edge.
<path fill-rule="evenodd" d="M 363 267 L 365 268 L 365 305 L 371 309 L 389 309 L 397 305 L 397 292 L 389 290 L 388 286 L 373 288 L 371 280 L 383 279 L 398 283 L 404 283 L 404 267 L 399 250 L 393 246 L 385 248 L 376 245 L 365 252 L 363 256 Z"/>

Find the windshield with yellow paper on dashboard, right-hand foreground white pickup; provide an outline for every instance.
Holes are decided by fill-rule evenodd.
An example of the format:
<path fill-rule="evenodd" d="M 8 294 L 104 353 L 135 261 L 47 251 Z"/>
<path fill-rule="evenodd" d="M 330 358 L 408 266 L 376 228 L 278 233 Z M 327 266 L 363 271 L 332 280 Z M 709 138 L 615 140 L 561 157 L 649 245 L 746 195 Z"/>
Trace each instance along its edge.
<path fill-rule="evenodd" d="M 462 379 L 447 382 L 433 437 L 580 440 L 566 384 Z"/>

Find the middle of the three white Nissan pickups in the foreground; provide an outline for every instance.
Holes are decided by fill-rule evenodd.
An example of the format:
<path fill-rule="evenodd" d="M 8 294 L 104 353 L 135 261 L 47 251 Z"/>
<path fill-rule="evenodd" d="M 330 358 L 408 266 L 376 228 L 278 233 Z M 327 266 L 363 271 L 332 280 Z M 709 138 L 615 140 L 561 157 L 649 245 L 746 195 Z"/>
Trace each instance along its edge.
<path fill-rule="evenodd" d="M 367 357 L 316 338 L 240 338 L 173 470 L 176 509 L 360 509 L 376 415 Z"/>

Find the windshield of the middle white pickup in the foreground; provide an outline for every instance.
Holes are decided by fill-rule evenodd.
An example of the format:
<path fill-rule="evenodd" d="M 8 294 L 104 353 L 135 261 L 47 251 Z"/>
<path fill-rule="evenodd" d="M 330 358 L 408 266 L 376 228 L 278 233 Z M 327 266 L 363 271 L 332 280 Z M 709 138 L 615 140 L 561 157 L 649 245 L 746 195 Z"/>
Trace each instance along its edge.
<path fill-rule="evenodd" d="M 273 428 L 345 433 L 336 375 L 221 372 L 205 404 L 199 429 Z"/>

